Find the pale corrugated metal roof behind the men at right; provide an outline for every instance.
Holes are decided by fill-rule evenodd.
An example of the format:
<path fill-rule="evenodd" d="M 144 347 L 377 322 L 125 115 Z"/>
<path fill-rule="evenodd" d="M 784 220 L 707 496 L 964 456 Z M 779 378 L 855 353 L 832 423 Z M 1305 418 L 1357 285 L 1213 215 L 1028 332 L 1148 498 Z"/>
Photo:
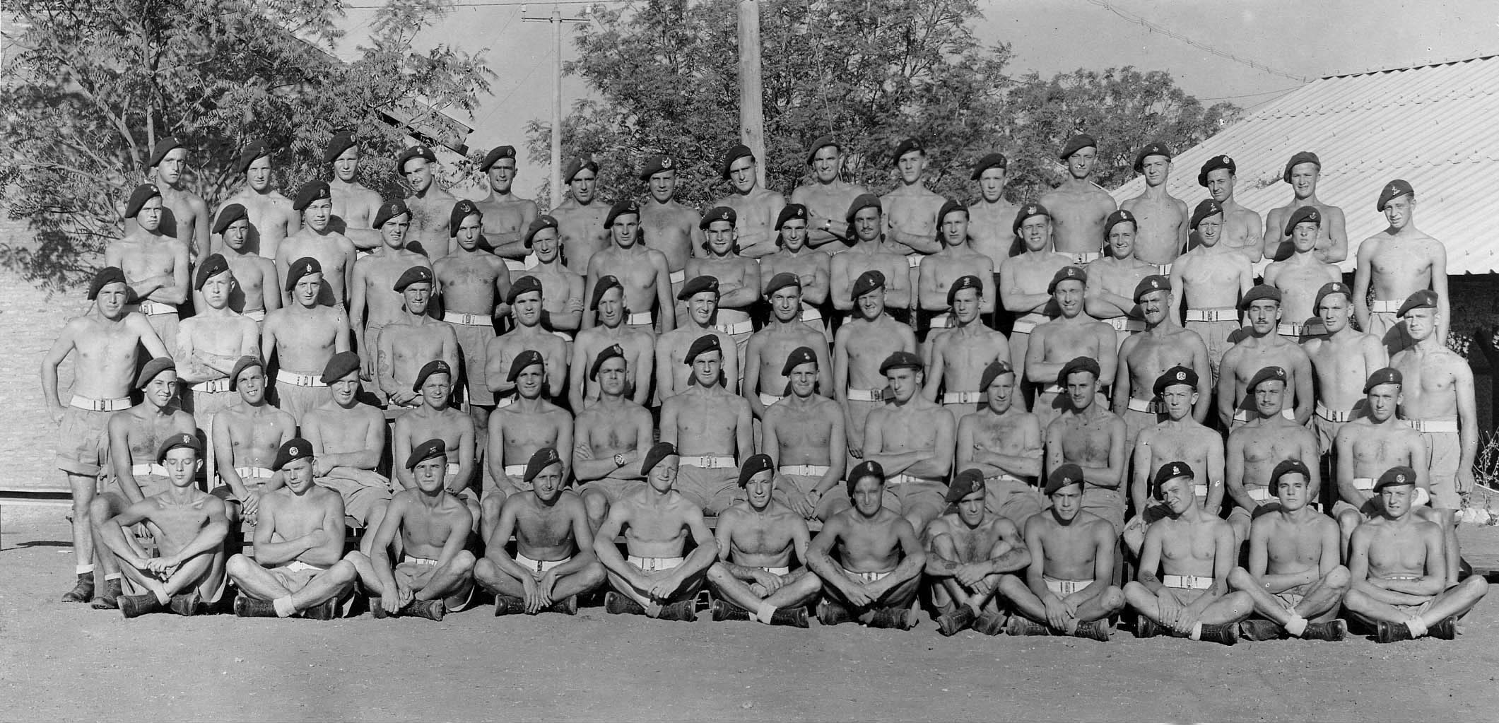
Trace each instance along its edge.
<path fill-rule="evenodd" d="M 1280 174 L 1291 154 L 1322 159 L 1318 198 L 1348 219 L 1348 261 L 1358 244 L 1385 229 L 1375 211 L 1379 189 L 1396 178 L 1415 187 L 1415 223 L 1447 244 L 1447 270 L 1499 270 L 1493 213 L 1499 211 L 1499 57 L 1319 78 L 1256 109 L 1222 133 L 1177 154 L 1166 189 L 1195 207 L 1202 162 L 1229 154 L 1238 165 L 1240 204 L 1261 217 L 1291 202 Z M 1138 196 L 1136 177 L 1114 198 Z"/>

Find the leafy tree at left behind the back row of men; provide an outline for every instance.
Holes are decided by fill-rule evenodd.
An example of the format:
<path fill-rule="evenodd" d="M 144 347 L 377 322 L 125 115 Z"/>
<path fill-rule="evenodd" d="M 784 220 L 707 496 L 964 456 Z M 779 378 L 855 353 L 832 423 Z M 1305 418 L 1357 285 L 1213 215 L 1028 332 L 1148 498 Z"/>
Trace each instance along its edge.
<path fill-rule="evenodd" d="M 0 264 L 48 288 L 90 274 L 165 136 L 190 148 L 184 184 L 210 208 L 243 180 L 252 139 L 277 148 L 282 187 L 295 189 L 331 174 L 322 150 L 337 129 L 358 135 L 364 183 L 399 196 L 391 118 L 453 133 L 436 109 L 472 111 L 493 76 L 474 54 L 412 48 L 447 4 L 388 3 L 345 63 L 331 54 L 342 12 L 324 0 L 13 0 L 24 30 L 0 70 L 0 187 L 36 238 L 0 244 Z"/>

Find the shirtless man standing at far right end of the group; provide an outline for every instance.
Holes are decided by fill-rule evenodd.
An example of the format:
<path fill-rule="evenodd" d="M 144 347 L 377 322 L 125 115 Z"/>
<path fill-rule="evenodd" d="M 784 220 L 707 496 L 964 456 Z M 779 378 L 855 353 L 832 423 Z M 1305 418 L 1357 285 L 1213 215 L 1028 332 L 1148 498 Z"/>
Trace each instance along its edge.
<path fill-rule="evenodd" d="M 1457 584 L 1457 509 L 1474 490 L 1478 413 L 1474 368 L 1436 337 L 1441 300 L 1418 289 L 1400 306 L 1411 346 L 1390 358 L 1405 379 L 1400 419 L 1421 433 L 1432 461 L 1432 508 L 1442 515 L 1447 539 L 1447 584 Z M 1358 577 L 1355 577 L 1357 580 Z"/>

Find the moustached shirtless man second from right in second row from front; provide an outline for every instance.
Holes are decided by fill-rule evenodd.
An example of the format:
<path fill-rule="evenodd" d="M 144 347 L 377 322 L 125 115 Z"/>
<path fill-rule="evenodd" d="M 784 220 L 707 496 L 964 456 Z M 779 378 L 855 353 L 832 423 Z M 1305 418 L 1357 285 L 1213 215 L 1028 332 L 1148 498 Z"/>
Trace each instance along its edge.
<path fill-rule="evenodd" d="M 1253 406 L 1246 410 L 1247 422 L 1235 425 L 1228 434 L 1223 475 L 1226 493 L 1234 502 L 1228 523 L 1234 526 L 1235 541 L 1240 544 L 1249 536 L 1255 511 L 1274 499 L 1270 493 L 1270 473 L 1276 464 L 1288 458 L 1318 458 L 1312 431 L 1285 416 L 1282 398 L 1288 389 L 1286 368 L 1262 367 L 1246 388 L 1246 401 Z M 1313 493 L 1321 491 L 1322 476 L 1318 470 L 1312 472 L 1312 485 Z"/>

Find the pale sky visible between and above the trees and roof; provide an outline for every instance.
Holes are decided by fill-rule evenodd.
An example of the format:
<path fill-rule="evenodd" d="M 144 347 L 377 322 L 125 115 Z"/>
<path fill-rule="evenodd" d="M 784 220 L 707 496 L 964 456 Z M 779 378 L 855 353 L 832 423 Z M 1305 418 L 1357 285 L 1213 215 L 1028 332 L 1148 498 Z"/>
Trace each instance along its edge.
<path fill-rule="evenodd" d="M 520 147 L 525 123 L 552 112 L 552 28 L 522 21 L 520 6 L 477 4 L 511 0 L 457 1 L 468 6 L 454 7 L 418 45 L 486 49 L 498 78 L 492 96 L 481 99 L 468 120 L 474 126 L 469 147 Z M 1013 75 L 1160 69 L 1204 100 L 1229 99 L 1244 108 L 1273 100 L 1301 81 L 1214 55 L 1121 18 L 1108 6 L 1199 45 L 1306 78 L 1499 54 L 1496 0 L 980 0 L 980 6 L 977 34 L 988 43 L 1012 45 Z M 552 9 L 531 3 L 525 15 L 546 16 Z M 561 10 L 579 16 L 583 6 L 564 4 Z M 372 10 L 348 10 L 351 43 L 363 37 Z M 567 24 L 564 31 L 564 60 L 576 57 L 568 39 L 573 27 Z M 564 111 L 585 91 L 582 81 L 564 79 Z M 546 172 L 522 159 L 517 190 L 529 195 Z"/>

